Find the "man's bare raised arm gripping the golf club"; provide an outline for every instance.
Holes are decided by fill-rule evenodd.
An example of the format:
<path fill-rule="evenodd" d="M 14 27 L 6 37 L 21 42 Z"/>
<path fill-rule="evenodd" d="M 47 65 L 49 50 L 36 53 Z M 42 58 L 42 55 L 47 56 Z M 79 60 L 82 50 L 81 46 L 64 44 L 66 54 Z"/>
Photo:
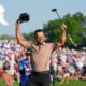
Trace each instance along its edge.
<path fill-rule="evenodd" d="M 67 26 L 64 24 L 62 24 L 61 26 L 61 29 L 62 29 L 62 37 L 61 37 L 61 41 L 59 43 L 57 43 L 57 47 L 62 47 L 66 43 L 66 29 L 67 29 Z"/>

